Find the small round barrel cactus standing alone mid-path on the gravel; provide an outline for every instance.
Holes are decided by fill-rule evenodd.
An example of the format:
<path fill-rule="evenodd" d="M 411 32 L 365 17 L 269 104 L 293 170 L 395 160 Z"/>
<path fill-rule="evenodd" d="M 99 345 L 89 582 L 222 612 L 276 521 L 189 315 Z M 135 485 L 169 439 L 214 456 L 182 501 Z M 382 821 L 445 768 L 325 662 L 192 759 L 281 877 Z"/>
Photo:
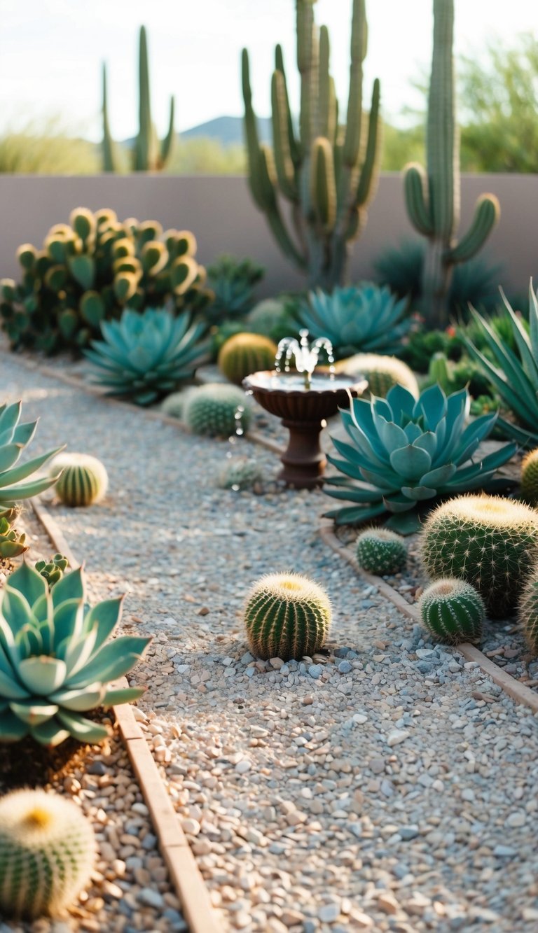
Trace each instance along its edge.
<path fill-rule="evenodd" d="M 299 661 L 323 645 L 331 625 L 327 593 L 299 574 L 270 574 L 248 593 L 245 626 L 253 655 Z"/>

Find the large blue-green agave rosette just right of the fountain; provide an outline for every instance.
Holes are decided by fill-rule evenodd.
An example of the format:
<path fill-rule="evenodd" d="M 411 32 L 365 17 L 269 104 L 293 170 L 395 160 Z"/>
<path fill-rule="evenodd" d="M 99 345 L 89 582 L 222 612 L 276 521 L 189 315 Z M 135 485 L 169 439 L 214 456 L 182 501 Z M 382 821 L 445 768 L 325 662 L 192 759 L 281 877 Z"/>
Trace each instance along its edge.
<path fill-rule="evenodd" d="M 508 480 L 492 477 L 517 445 L 505 444 L 474 462 L 497 412 L 465 426 L 469 405 L 466 389 L 446 397 L 438 385 L 418 400 L 402 385 L 393 386 L 387 398 L 353 399 L 349 411 L 341 412 L 352 443 L 333 438 L 343 459 L 329 457 L 345 477 L 326 480 L 336 487 L 326 492 L 357 505 L 329 517 L 337 524 L 359 523 L 389 512 L 389 527 L 409 534 L 418 527 L 424 504 L 431 508 L 441 496 L 505 488 Z"/>

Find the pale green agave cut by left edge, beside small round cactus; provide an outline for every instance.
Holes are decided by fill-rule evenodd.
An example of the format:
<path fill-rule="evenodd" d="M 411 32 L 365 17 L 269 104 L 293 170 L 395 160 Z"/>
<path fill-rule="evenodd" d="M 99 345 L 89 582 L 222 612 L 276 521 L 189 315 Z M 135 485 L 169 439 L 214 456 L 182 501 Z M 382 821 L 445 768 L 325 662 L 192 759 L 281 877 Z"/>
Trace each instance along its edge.
<path fill-rule="evenodd" d="M 20 424 L 21 402 L 0 406 L 0 517 L 9 519 L 15 503 L 20 499 L 29 499 L 33 495 L 44 493 L 58 477 L 45 477 L 31 482 L 21 482 L 40 469 L 54 453 L 63 450 L 56 448 L 49 453 L 41 453 L 25 464 L 15 466 L 24 448 L 35 435 L 36 421 Z"/>

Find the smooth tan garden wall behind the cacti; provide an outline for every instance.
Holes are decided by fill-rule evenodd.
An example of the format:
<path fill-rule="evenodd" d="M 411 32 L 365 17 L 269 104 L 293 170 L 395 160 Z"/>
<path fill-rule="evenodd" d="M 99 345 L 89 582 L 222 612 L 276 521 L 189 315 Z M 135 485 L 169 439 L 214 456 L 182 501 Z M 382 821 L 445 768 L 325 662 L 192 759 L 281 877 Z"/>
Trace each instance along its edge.
<path fill-rule="evenodd" d="M 503 261 L 506 287 L 524 290 L 538 278 L 538 175 L 488 174 L 462 178 L 462 225 L 469 223 L 476 197 L 495 193 L 502 218 L 488 244 L 490 258 Z M 267 270 L 261 294 L 302 285 L 280 255 L 263 216 L 241 177 L 95 175 L 46 177 L 0 175 L 0 276 L 18 275 L 15 250 L 41 244 L 52 224 L 67 220 L 74 207 L 112 207 L 120 219 L 157 219 L 164 228 L 192 230 L 198 257 L 207 265 L 222 252 L 259 260 Z M 351 276 L 372 274 L 373 259 L 389 244 L 412 235 L 399 174 L 381 177 L 361 240 L 354 245 Z"/>

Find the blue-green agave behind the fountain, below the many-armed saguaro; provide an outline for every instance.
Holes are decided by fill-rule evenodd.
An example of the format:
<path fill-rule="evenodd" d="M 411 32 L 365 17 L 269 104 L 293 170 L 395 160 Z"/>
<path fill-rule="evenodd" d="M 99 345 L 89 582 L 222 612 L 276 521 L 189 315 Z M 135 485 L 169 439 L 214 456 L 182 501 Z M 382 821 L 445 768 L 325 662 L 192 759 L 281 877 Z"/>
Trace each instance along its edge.
<path fill-rule="evenodd" d="M 310 292 L 309 306 L 301 309 L 301 323 L 313 337 L 328 337 L 335 358 L 356 353 L 395 354 L 411 327 L 404 318 L 407 300 L 397 300 L 389 288 L 361 282 L 350 288 L 334 288 L 330 295 Z"/>

